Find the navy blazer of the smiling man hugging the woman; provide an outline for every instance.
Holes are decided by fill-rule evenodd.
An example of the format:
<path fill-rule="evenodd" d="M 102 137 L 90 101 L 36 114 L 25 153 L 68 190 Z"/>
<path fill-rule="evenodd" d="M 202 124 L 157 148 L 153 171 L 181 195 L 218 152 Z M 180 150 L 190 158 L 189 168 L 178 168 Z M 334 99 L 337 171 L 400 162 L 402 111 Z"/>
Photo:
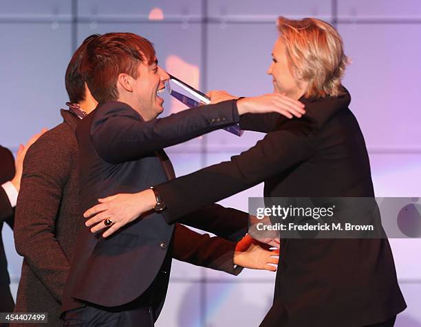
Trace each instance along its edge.
<path fill-rule="evenodd" d="M 162 148 L 238 121 L 235 101 L 190 109 L 149 122 L 144 122 L 122 102 L 100 104 L 76 129 L 82 212 L 98 203 L 99 198 L 119 192 L 138 192 L 166 181 L 171 177 L 172 167 L 168 166 Z M 220 206 L 211 207 L 217 220 L 226 220 L 226 216 L 217 217 Z M 194 227 L 212 232 L 209 229 L 215 224 L 208 223 L 206 212 L 197 211 L 187 216 L 186 221 L 204 216 L 205 224 Z M 243 229 L 246 227 L 247 216 L 243 212 L 230 210 L 230 214 L 237 214 Z M 225 227 L 230 225 L 233 224 L 224 223 Z M 155 280 L 160 286 L 153 290 L 156 319 L 166 294 L 173 247 L 177 249 L 178 228 L 166 224 L 161 214 L 152 212 L 107 239 L 91 234 L 87 228 L 81 229 L 65 286 L 63 311 L 81 306 L 80 301 L 108 307 L 128 304 Z M 241 236 L 241 233 L 234 234 L 226 232 L 227 237 Z M 188 241 L 190 237 L 185 238 Z M 193 247 L 193 242 L 189 247 L 182 245 L 188 251 Z M 233 269 L 233 248 L 221 249 L 216 257 L 206 260 L 207 266 L 216 268 L 230 257 Z"/>

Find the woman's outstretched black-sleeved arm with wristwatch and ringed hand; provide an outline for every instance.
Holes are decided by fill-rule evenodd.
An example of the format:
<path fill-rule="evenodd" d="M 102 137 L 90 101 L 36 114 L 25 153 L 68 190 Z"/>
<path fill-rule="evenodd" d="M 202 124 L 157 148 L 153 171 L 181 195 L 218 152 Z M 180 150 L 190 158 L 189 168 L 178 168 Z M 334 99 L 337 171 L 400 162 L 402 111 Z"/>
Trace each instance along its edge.
<path fill-rule="evenodd" d="M 268 133 L 255 146 L 230 161 L 156 185 L 155 190 L 166 205 L 162 215 L 167 223 L 175 223 L 186 214 L 251 188 L 311 157 L 315 151 L 314 136 L 302 132 L 295 122 L 291 123 L 291 129 Z M 102 234 L 104 237 L 140 214 L 153 210 L 157 203 L 152 190 L 116 194 L 99 201 L 100 204 L 87 210 L 84 216 L 92 216 L 86 222 L 91 232 L 104 229 L 102 221 L 111 217 L 114 225 Z M 123 209 L 127 207 L 132 210 Z"/>

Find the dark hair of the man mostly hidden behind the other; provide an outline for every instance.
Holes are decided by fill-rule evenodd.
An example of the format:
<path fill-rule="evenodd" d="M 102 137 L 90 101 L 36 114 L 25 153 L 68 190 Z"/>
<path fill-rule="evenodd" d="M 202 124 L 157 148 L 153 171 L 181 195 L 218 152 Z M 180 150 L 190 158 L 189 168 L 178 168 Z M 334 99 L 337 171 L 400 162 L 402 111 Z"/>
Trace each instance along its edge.
<path fill-rule="evenodd" d="M 85 72 L 82 71 L 81 63 L 86 56 L 87 45 L 98 38 L 99 34 L 92 34 L 85 38 L 83 43 L 76 49 L 72 59 L 70 59 L 69 65 L 66 69 L 65 84 L 66 91 L 69 95 L 69 101 L 72 103 L 80 103 L 85 100 Z"/>

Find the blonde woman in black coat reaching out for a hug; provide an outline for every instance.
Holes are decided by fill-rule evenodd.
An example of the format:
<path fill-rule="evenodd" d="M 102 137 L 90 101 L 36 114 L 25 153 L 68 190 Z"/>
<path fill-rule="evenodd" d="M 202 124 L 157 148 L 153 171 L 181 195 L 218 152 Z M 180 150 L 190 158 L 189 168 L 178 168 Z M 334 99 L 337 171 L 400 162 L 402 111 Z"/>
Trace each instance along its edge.
<path fill-rule="evenodd" d="M 303 118 L 244 115 L 242 129 L 266 133 L 255 146 L 153 190 L 102 199 L 85 212 L 92 232 L 110 218 L 107 236 L 163 206 L 173 223 L 262 181 L 264 196 L 374 196 L 363 134 L 341 85 L 341 36 L 319 19 L 279 17 L 277 25 L 268 74 L 275 91 L 305 104 Z M 215 102 L 232 98 L 210 95 Z M 387 238 L 282 239 L 280 248 L 274 302 L 261 326 L 393 326 L 406 307 Z"/>

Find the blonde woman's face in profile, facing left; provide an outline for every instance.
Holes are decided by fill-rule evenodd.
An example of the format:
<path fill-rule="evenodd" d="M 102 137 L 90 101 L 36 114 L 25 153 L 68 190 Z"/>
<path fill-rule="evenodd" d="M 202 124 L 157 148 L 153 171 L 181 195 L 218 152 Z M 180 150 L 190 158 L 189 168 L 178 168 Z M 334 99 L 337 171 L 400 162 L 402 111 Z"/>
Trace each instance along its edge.
<path fill-rule="evenodd" d="M 272 64 L 270 64 L 268 74 L 272 75 L 274 92 L 286 93 L 286 95 L 296 99 L 299 99 L 303 94 L 303 86 L 299 84 L 292 73 L 281 37 L 277 39 L 272 49 Z"/>

